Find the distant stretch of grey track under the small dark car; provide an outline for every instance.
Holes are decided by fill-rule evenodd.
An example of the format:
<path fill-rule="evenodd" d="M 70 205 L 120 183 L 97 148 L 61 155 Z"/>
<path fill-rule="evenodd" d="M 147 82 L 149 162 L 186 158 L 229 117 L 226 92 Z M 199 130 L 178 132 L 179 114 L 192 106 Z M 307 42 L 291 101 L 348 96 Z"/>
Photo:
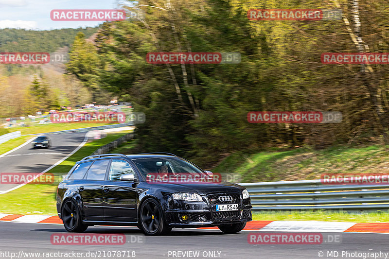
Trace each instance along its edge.
<path fill-rule="evenodd" d="M 51 148 L 33 149 L 30 141 L 14 152 L 0 157 L 0 173 L 40 173 L 69 155 L 83 142 L 85 134 L 81 132 L 47 135 L 52 141 Z M 0 192 L 15 186 L 17 185 L 0 184 Z"/>

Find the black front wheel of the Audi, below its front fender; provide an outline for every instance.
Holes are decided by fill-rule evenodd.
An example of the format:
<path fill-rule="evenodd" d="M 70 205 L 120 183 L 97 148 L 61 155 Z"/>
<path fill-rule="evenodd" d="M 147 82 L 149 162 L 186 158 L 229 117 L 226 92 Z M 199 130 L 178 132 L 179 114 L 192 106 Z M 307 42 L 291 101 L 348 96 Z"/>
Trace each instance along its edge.
<path fill-rule="evenodd" d="M 144 201 L 139 218 L 139 227 L 148 236 L 164 235 L 172 230 L 165 222 L 161 206 L 154 199 Z"/>

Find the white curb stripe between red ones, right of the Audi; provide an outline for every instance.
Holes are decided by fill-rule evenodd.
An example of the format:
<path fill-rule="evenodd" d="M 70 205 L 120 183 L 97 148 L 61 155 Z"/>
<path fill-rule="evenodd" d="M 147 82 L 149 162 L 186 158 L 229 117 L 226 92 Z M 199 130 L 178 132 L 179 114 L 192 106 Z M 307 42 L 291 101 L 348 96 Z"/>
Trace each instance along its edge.
<path fill-rule="evenodd" d="M 260 231 L 344 232 L 355 224 L 355 222 L 330 221 L 273 221 Z"/>

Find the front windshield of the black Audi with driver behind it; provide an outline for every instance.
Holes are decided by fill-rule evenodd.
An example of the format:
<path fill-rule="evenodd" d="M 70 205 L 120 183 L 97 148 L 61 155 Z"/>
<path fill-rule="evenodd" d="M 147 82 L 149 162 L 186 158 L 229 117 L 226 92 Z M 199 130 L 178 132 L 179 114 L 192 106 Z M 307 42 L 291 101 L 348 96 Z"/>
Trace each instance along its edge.
<path fill-rule="evenodd" d="M 146 177 L 150 173 L 178 173 L 197 174 L 206 177 L 201 169 L 194 164 L 179 157 L 156 157 L 156 158 L 137 158 L 132 159 L 140 173 Z"/>

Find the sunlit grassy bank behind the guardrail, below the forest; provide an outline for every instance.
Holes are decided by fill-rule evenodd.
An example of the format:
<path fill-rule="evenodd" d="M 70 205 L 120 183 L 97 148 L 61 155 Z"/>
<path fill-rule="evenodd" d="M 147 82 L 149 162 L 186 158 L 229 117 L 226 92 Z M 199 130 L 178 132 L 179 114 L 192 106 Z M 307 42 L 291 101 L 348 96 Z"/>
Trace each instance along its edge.
<path fill-rule="evenodd" d="M 212 172 L 240 173 L 242 182 L 319 179 L 323 173 L 388 173 L 388 157 L 389 150 L 379 145 L 272 149 L 256 154 L 232 154 Z"/>

